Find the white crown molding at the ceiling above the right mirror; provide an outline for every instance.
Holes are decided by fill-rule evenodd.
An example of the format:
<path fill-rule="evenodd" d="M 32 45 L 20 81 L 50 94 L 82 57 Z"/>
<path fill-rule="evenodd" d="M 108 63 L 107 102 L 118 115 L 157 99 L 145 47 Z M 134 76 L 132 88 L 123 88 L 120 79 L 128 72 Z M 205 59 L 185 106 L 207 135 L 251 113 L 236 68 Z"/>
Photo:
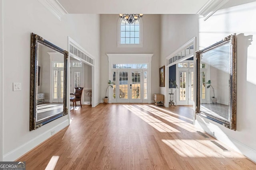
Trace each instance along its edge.
<path fill-rule="evenodd" d="M 229 0 L 209 0 L 202 6 L 202 8 L 197 12 L 204 16 L 204 21 L 206 21 L 212 14 L 218 11 L 222 6 L 224 6 Z"/>

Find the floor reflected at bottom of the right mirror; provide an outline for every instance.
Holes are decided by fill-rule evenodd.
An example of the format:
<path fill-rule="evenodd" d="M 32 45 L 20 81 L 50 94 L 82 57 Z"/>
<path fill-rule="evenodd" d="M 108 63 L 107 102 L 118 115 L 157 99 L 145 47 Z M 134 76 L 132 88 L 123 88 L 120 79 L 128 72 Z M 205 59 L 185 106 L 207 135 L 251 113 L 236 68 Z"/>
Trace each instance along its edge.
<path fill-rule="evenodd" d="M 204 111 L 205 113 L 214 115 L 218 118 L 224 119 L 226 121 L 228 121 L 228 105 L 224 105 L 224 104 L 206 104 L 206 103 L 201 103 L 200 104 L 200 109 L 201 111 Z"/>

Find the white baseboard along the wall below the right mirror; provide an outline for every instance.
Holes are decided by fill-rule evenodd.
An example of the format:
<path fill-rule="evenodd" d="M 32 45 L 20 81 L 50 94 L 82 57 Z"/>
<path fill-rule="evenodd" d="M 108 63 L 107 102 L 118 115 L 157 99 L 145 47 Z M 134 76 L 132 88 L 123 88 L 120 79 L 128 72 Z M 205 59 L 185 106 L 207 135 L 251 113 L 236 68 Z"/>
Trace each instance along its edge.
<path fill-rule="evenodd" d="M 202 129 L 212 137 L 218 139 L 228 147 L 236 150 L 237 152 L 243 154 L 246 156 L 248 159 L 252 160 L 253 162 L 256 162 L 256 150 L 252 149 L 251 147 L 248 147 L 247 145 L 244 145 L 243 143 L 240 143 L 236 139 L 232 137 L 228 137 L 225 133 L 218 131 L 216 129 L 211 128 L 210 126 L 206 126 L 203 122 L 199 121 L 198 119 L 196 120 L 195 126 L 198 129 Z M 214 132 L 214 135 L 213 133 Z"/>

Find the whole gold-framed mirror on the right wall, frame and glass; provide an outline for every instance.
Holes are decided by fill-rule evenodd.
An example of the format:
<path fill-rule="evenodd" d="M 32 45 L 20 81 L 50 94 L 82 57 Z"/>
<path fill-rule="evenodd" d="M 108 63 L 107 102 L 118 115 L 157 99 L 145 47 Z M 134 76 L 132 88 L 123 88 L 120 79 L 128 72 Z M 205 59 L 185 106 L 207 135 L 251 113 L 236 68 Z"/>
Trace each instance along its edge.
<path fill-rule="evenodd" d="M 236 130 L 236 34 L 196 51 L 196 114 Z"/>

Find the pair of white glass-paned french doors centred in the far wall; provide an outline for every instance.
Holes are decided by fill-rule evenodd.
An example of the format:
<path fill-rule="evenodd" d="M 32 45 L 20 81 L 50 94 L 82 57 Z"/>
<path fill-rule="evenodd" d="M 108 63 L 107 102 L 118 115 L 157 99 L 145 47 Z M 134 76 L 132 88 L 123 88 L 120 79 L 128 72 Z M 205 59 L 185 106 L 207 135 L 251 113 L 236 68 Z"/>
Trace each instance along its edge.
<path fill-rule="evenodd" d="M 142 103 L 142 70 L 118 70 L 116 99 L 118 103 Z"/>

